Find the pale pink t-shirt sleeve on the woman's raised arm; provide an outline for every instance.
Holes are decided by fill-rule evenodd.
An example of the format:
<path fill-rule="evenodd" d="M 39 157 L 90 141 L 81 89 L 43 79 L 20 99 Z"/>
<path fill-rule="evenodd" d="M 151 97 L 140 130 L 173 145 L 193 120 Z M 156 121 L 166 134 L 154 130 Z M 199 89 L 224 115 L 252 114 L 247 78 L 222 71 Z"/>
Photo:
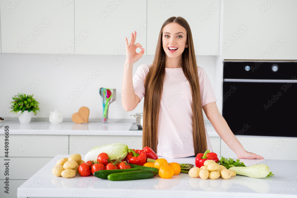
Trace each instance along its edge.
<path fill-rule="evenodd" d="M 136 73 L 133 77 L 133 88 L 135 94 L 140 98 L 140 101 L 144 97 L 145 89 L 144 89 L 144 80 L 146 78 L 146 75 L 149 73 L 149 67 L 148 64 L 142 64 L 140 65 Z"/>

